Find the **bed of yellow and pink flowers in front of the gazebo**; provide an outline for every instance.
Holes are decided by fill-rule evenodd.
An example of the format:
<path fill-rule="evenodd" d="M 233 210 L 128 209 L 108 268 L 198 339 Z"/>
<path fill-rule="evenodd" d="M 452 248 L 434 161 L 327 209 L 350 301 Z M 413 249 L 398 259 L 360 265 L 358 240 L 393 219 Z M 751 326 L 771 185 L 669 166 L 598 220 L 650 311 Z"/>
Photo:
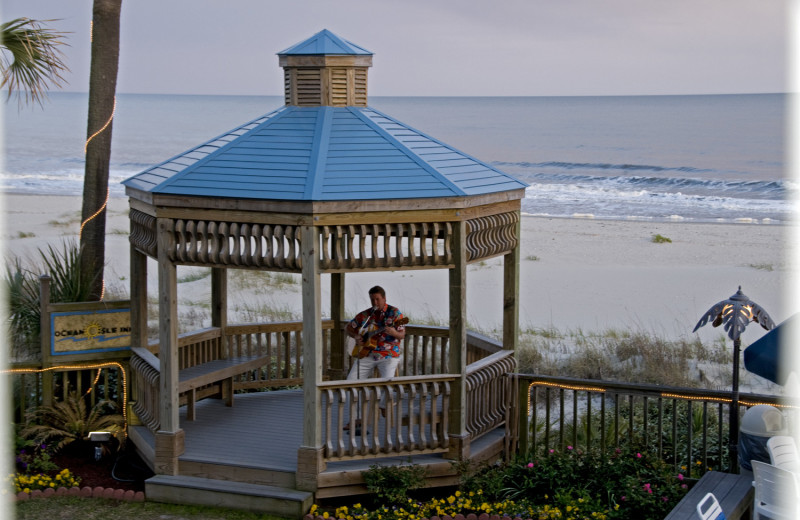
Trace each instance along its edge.
<path fill-rule="evenodd" d="M 614 450 L 561 452 L 493 466 L 460 465 L 460 490 L 447 498 L 405 499 L 389 505 L 317 505 L 307 518 L 422 520 L 493 516 L 523 519 L 660 520 L 685 495 L 682 473 L 655 455 Z"/>

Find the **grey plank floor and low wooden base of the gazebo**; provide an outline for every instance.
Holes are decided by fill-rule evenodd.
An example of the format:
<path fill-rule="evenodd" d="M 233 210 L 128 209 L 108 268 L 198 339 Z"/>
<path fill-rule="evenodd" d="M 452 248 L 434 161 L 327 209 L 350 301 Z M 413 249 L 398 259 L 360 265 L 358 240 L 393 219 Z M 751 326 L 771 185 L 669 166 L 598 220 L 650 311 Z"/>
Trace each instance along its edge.
<path fill-rule="evenodd" d="M 186 407 L 181 407 L 180 424 L 186 436 L 185 452 L 179 458 L 181 475 L 295 487 L 297 452 L 302 441 L 302 390 L 236 394 L 232 407 L 225 406 L 222 399 L 204 399 L 196 403 L 194 421 L 186 419 Z M 133 426 L 129 431 L 145 460 L 151 461 L 153 434 L 145 426 Z M 484 435 L 473 442 L 472 458 L 498 456 L 503 439 L 502 428 Z M 317 497 L 366 492 L 361 471 L 373 464 L 408 461 L 406 456 L 331 462 L 319 477 Z M 457 481 L 450 463 L 440 454 L 416 455 L 411 461 L 428 467 L 428 474 L 433 477 L 429 485 Z"/>

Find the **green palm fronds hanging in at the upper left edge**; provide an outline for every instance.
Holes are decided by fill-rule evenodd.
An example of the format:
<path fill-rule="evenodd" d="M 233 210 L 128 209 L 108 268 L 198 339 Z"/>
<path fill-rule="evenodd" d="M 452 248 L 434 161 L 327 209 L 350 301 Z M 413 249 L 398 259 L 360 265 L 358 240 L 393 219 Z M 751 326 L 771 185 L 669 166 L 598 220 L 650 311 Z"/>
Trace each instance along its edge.
<path fill-rule="evenodd" d="M 59 49 L 60 45 L 66 45 L 66 33 L 45 25 L 52 21 L 16 18 L 0 25 L 0 69 L 3 72 L 0 88 L 8 87 L 8 99 L 16 93 L 20 106 L 30 102 L 41 105 L 51 85 L 66 84 L 61 73 L 69 69 Z M 21 92 L 25 92 L 24 96 Z"/>

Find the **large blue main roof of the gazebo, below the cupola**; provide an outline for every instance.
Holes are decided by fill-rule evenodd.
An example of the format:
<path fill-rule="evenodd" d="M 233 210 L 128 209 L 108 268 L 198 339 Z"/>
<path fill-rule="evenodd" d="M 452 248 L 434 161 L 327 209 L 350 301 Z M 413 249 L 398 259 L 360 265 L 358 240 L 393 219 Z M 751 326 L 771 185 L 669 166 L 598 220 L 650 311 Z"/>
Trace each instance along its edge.
<path fill-rule="evenodd" d="M 283 201 L 483 195 L 527 185 L 369 107 L 285 106 L 123 181 Z"/>

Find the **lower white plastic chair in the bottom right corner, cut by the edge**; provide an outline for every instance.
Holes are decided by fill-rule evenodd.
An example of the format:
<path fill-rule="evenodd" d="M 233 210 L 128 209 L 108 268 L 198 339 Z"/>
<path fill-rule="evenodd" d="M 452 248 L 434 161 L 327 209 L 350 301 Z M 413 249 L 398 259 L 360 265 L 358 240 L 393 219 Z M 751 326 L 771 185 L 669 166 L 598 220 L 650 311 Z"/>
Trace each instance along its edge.
<path fill-rule="evenodd" d="M 753 500 L 753 520 L 797 520 L 800 518 L 797 479 L 789 470 L 754 460 L 753 476 L 756 487 Z"/>

